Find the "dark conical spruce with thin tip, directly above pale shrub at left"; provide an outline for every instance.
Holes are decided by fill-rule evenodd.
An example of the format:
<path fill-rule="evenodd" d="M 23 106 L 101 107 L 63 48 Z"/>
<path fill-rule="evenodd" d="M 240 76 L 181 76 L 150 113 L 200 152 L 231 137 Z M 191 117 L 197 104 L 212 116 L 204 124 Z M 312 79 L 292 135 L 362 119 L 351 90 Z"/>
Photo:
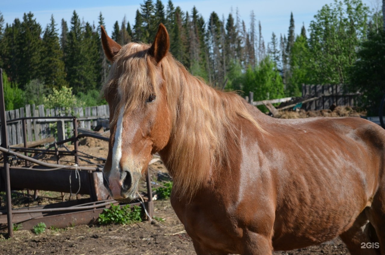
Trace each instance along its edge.
<path fill-rule="evenodd" d="M 49 88 L 60 89 L 68 86 L 65 80 L 63 52 L 60 49 L 59 34 L 57 33 L 54 15 L 51 23 L 47 25 L 43 36 L 42 79 Z"/>

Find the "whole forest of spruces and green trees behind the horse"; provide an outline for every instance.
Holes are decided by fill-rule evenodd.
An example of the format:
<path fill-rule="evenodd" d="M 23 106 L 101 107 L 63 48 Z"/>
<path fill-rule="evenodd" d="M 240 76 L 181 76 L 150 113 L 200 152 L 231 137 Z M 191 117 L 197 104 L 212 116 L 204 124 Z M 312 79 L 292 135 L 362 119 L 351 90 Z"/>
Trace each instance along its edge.
<path fill-rule="evenodd" d="M 271 38 L 263 38 L 253 11 L 249 24 L 238 9 L 227 17 L 213 11 L 205 20 L 195 7 L 181 10 L 171 0 L 166 6 L 160 0 L 144 0 L 135 23 L 122 17 L 110 36 L 121 45 L 151 43 L 159 23 L 164 23 L 170 52 L 213 87 L 241 94 L 253 91 L 254 101 L 259 101 L 300 96 L 302 84 L 344 84 L 363 92 L 360 106 L 370 113 L 377 111 L 385 93 L 384 9 L 370 10 L 361 0 L 335 0 L 318 10 L 300 34 L 295 34 L 295 17 L 288 13 L 287 34 L 272 32 Z M 7 110 L 42 104 L 62 89 L 72 93 L 79 106 L 104 103 L 99 88 L 110 63 L 100 42 L 101 12 L 96 19 L 80 20 L 74 11 L 71 20 L 52 16 L 46 25 L 29 12 L 22 20 L 4 24 L 0 12 Z"/>

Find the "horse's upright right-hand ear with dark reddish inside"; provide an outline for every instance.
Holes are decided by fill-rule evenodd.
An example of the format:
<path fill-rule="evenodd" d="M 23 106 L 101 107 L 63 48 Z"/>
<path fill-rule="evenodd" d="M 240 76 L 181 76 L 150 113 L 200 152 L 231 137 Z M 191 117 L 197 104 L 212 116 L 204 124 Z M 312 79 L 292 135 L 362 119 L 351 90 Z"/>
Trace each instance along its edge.
<path fill-rule="evenodd" d="M 158 32 L 155 35 L 154 42 L 149 49 L 149 54 L 152 55 L 156 62 L 162 60 L 162 58 L 167 54 L 170 49 L 170 37 L 168 35 L 166 27 L 160 23 Z"/>

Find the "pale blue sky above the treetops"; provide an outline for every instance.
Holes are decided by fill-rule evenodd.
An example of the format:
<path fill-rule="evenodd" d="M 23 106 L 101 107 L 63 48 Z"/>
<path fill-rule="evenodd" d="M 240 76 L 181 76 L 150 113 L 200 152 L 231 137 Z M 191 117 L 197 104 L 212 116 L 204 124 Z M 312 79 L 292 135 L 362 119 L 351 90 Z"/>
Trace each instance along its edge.
<path fill-rule="evenodd" d="M 362 0 L 370 8 L 381 8 L 381 0 Z M 12 23 L 15 18 L 23 17 L 23 13 L 31 11 L 42 25 L 42 29 L 49 23 L 51 14 L 54 15 L 56 23 L 64 18 L 67 23 L 70 22 L 72 12 L 76 10 L 79 17 L 92 23 L 97 23 L 99 12 L 102 12 L 105 18 L 107 33 L 110 35 L 112 27 L 116 20 L 121 23 L 124 15 L 127 21 L 134 24 L 136 10 L 143 3 L 143 0 L 65 0 L 65 1 L 44 1 L 44 0 L 2 0 L 0 3 L 0 12 L 2 12 L 5 22 Z M 154 0 L 155 2 L 155 0 Z M 162 0 L 165 7 L 168 0 Z M 250 22 L 250 12 L 254 10 L 256 20 L 261 21 L 262 35 L 265 42 L 269 42 L 271 33 L 276 35 L 287 34 L 290 20 L 290 12 L 293 12 L 295 20 L 296 34 L 300 33 L 302 24 L 305 23 L 306 30 L 310 21 L 318 10 L 325 4 L 333 0 L 174 0 L 174 6 L 180 6 L 185 12 L 191 13 L 195 5 L 198 12 L 201 13 L 207 21 L 211 12 L 215 11 L 219 17 L 224 15 L 227 18 L 229 12 L 236 8 L 239 10 L 241 19 L 246 25 Z"/>

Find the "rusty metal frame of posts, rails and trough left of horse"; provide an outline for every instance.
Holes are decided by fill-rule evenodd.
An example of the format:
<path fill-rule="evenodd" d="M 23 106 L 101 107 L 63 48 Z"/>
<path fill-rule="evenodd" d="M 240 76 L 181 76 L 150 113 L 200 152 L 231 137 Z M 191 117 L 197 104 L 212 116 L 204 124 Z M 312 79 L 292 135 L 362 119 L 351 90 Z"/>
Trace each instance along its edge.
<path fill-rule="evenodd" d="M 57 143 L 51 144 L 47 149 L 45 150 L 39 150 L 41 153 L 47 153 L 47 154 L 53 154 L 57 153 L 57 151 L 50 150 L 50 148 L 64 144 L 67 142 L 73 142 L 74 143 L 74 150 L 65 152 L 67 155 L 73 155 L 75 158 L 75 163 L 79 165 L 79 159 L 81 156 L 79 156 L 78 152 L 81 153 L 78 145 L 78 141 L 80 138 L 83 137 L 92 137 L 97 139 L 102 139 L 104 141 L 109 141 L 109 138 L 105 138 L 103 136 L 98 136 L 95 134 L 78 134 L 77 130 L 77 123 L 79 120 L 82 120 L 82 118 L 77 118 L 75 116 L 57 116 L 57 117 L 22 117 L 17 118 L 8 121 L 8 123 L 13 123 L 17 121 L 22 122 L 22 131 L 23 131 L 23 148 L 12 148 L 16 149 L 17 151 L 21 151 L 22 153 L 15 152 L 10 149 L 8 144 L 8 136 L 7 136 L 7 120 L 5 117 L 5 100 L 4 100 L 4 89 L 3 89 L 3 79 L 2 79 L 2 69 L 0 68 L 0 125 L 1 125 L 1 136 L 2 136 L 2 144 L 0 146 L 0 153 L 3 153 L 3 162 L 4 166 L 0 166 L 0 169 L 4 171 L 5 173 L 3 176 L 5 176 L 5 193 L 6 193 L 6 203 L 7 203 L 7 210 L 0 211 L 0 215 L 7 215 L 7 228 L 8 228 L 8 237 L 13 237 L 13 223 L 20 223 L 21 221 L 15 221 L 12 220 L 12 215 L 31 215 L 31 213 L 42 213 L 42 215 L 39 216 L 33 216 L 30 217 L 29 220 L 23 221 L 23 227 L 25 229 L 30 229 L 35 224 L 35 221 L 42 221 L 42 218 L 44 218 L 44 221 L 47 221 L 47 226 L 56 226 L 56 227 L 65 227 L 64 225 L 60 225 L 60 222 L 67 222 L 68 220 L 71 220 L 71 224 L 88 224 L 88 223 L 95 223 L 95 219 L 99 215 L 106 206 L 108 206 L 113 200 L 101 200 L 101 201 L 95 201 L 95 197 L 93 194 L 96 194 L 98 191 L 97 185 L 93 183 L 92 180 L 95 178 L 95 176 L 92 176 L 93 174 L 96 174 L 96 172 L 102 171 L 103 163 L 100 164 L 88 164 L 87 166 L 67 166 L 62 164 L 51 164 L 51 163 L 45 163 L 42 161 L 39 161 L 38 159 L 28 157 L 27 153 L 31 151 L 37 151 L 35 149 L 27 148 L 27 129 L 26 129 L 26 120 L 27 119 L 68 119 L 69 121 L 72 120 L 74 125 L 74 136 L 68 139 L 65 139 L 63 141 L 59 141 Z M 64 154 L 64 153 L 63 153 Z M 9 164 L 8 156 L 16 156 L 19 159 L 22 159 L 25 161 L 25 167 L 11 167 Z M 40 165 L 40 167 L 37 168 L 28 168 L 29 163 L 35 163 Z M 97 165 L 94 167 L 91 167 L 92 165 Z M 30 208 L 30 209 L 12 209 L 12 200 L 11 200 L 11 183 L 10 183 L 10 169 L 21 169 L 21 170 L 38 170 L 38 171 L 53 171 L 53 170 L 60 170 L 60 169 L 66 169 L 66 170 L 76 170 L 81 169 L 85 170 L 89 175 L 89 181 L 90 181 L 90 202 L 75 206 L 59 206 L 56 208 Z M 80 177 L 79 177 L 80 178 Z M 130 206 L 132 205 L 143 205 L 144 210 L 147 210 L 147 213 L 149 214 L 151 220 L 152 213 L 153 213 L 153 206 L 152 206 L 152 189 L 151 189 L 151 180 L 149 176 L 149 169 L 147 168 L 147 201 L 142 203 L 130 203 Z M 1 183 L 1 182 L 0 182 Z M 73 201 L 69 202 L 62 202 L 58 203 L 62 205 L 63 203 L 73 203 Z M 70 203 L 70 204 L 71 204 Z M 118 203 L 118 202 L 114 202 Z M 51 204 L 50 207 L 55 206 L 55 204 Z M 62 214 L 58 214 L 62 212 Z M 96 217 L 96 218 L 95 218 Z M 64 221 L 63 221 L 64 220 Z"/>

